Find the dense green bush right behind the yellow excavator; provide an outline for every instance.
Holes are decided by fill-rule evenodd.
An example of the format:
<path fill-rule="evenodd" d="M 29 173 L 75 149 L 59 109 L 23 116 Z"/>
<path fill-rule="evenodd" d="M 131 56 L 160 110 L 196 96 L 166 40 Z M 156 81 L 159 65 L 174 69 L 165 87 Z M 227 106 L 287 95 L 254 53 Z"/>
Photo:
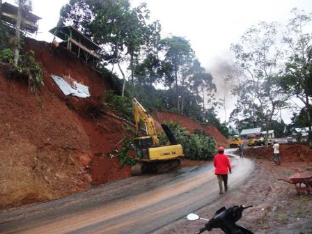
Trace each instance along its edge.
<path fill-rule="evenodd" d="M 180 127 L 179 123 L 167 123 L 171 132 L 176 137 L 178 143 L 183 146 L 185 158 L 193 160 L 208 160 L 216 153 L 215 141 L 203 131 L 189 133 L 185 127 Z M 164 133 L 159 134 L 160 142 L 166 143 Z"/>

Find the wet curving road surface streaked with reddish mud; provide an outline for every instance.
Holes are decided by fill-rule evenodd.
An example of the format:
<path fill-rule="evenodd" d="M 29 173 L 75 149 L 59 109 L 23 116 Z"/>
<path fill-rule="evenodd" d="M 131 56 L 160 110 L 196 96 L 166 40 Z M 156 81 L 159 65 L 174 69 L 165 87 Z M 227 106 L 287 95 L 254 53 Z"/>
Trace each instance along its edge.
<path fill-rule="evenodd" d="M 227 151 L 230 153 L 230 151 Z M 231 159 L 231 193 L 253 163 Z M 0 233 L 153 233 L 219 196 L 212 164 L 102 185 L 59 200 L 0 212 Z"/>

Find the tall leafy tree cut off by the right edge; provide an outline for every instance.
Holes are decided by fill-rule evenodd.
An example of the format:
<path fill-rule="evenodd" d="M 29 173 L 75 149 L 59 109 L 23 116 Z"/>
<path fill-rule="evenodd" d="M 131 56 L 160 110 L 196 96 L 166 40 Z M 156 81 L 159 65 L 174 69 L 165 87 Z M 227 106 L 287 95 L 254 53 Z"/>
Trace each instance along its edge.
<path fill-rule="evenodd" d="M 296 8 L 283 33 L 283 42 L 288 46 L 286 75 L 281 80 L 283 88 L 302 101 L 307 113 L 309 127 L 309 146 L 312 148 L 312 33 L 310 30 L 312 13 L 305 14 Z"/>

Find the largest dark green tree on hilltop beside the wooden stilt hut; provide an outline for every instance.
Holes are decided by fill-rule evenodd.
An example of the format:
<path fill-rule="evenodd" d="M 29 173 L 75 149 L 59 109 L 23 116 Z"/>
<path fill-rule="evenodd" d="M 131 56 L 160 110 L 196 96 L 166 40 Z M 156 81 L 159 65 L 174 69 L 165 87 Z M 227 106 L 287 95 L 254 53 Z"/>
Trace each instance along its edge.
<path fill-rule="evenodd" d="M 146 3 L 130 8 L 128 0 L 71 0 L 61 10 L 59 25 L 73 23 L 106 48 L 103 59 L 113 68 L 117 63 L 123 76 L 124 95 L 126 77 L 120 63 L 129 61 L 133 81 L 141 50 L 159 38 L 160 24 L 149 24 L 149 14 Z"/>

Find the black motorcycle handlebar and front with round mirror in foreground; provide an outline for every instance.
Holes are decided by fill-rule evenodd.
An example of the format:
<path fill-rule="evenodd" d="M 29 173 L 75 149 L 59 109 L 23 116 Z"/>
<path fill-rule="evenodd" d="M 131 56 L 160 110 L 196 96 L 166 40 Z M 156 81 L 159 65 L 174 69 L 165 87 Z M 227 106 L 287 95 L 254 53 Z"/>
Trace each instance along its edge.
<path fill-rule="evenodd" d="M 205 227 L 201 228 L 196 234 L 203 233 L 204 231 L 212 231 L 214 228 L 220 228 L 226 234 L 254 234 L 252 231 L 235 224 L 242 218 L 242 211 L 252 207 L 249 205 L 244 207 L 243 205 L 234 205 L 231 207 L 224 206 L 215 212 L 212 219 L 203 219 L 197 214 L 188 214 L 187 219 L 198 220 L 203 219 L 208 221 Z"/>

